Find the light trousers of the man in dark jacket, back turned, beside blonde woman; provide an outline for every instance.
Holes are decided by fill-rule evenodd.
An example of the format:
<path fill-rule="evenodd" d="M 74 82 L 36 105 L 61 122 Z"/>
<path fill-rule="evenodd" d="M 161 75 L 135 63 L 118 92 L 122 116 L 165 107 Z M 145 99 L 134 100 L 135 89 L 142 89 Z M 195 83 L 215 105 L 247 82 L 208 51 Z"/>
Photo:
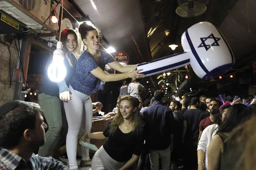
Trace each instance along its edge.
<path fill-rule="evenodd" d="M 149 150 L 151 170 L 159 170 L 159 158 L 162 170 L 169 170 L 171 164 L 171 146 L 163 150 Z"/>

